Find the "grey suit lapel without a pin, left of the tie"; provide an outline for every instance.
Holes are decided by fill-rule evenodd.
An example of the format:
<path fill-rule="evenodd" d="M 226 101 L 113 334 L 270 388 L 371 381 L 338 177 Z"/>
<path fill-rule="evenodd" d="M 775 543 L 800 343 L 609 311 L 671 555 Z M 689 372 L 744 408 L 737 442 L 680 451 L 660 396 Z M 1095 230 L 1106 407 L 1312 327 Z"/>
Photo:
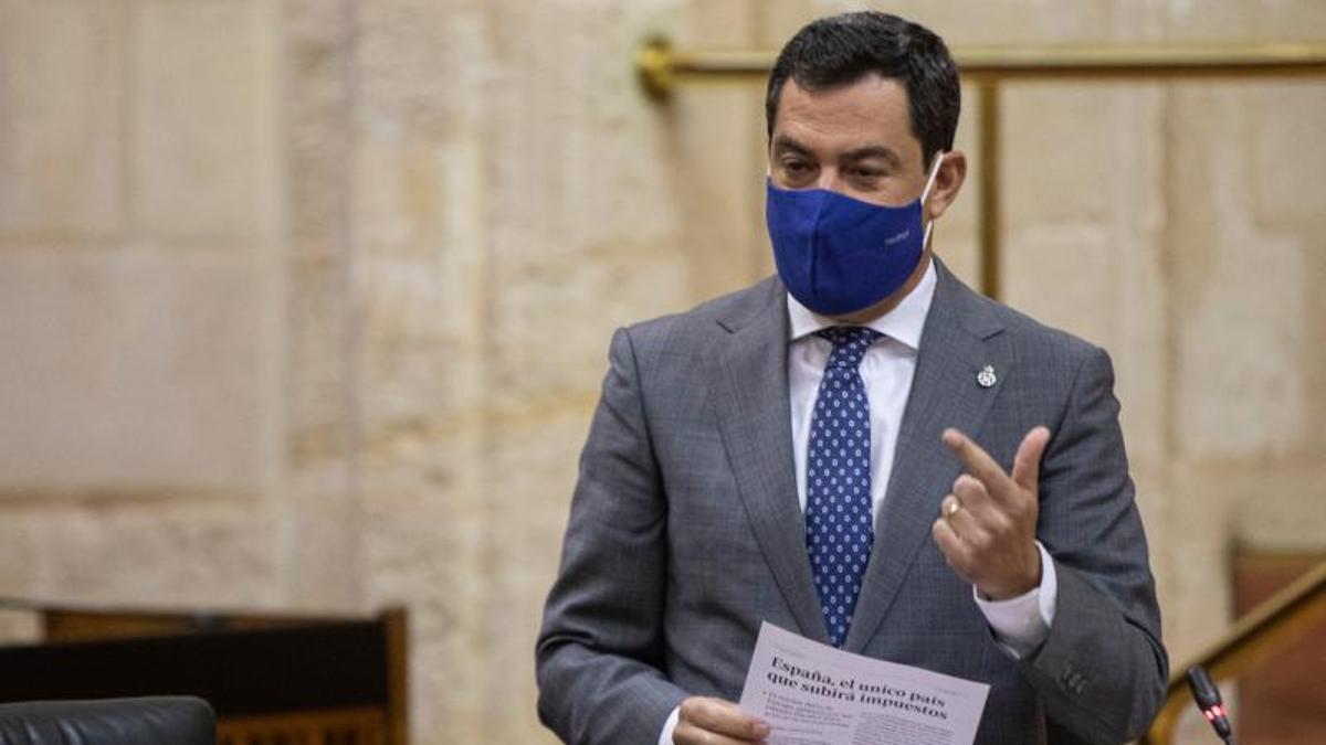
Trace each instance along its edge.
<path fill-rule="evenodd" d="M 719 319 L 713 406 L 737 489 L 765 561 L 804 636 L 825 642 L 805 520 L 797 501 L 788 403 L 788 309 L 776 281 Z"/>

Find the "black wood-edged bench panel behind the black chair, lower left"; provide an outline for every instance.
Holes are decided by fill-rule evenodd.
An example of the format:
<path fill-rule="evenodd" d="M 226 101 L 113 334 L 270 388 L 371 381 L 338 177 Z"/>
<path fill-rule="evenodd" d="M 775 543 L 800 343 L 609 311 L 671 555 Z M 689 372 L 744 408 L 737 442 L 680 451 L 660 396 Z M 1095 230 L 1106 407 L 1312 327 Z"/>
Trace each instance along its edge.
<path fill-rule="evenodd" d="M 406 745 L 403 608 L 367 619 L 36 607 L 0 700 L 190 693 L 229 745 Z"/>

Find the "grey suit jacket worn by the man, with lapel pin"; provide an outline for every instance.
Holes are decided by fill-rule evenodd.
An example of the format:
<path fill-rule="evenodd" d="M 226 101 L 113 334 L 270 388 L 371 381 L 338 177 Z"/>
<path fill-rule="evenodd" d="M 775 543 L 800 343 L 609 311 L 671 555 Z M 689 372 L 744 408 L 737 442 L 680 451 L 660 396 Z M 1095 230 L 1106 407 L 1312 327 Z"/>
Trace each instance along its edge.
<path fill-rule="evenodd" d="M 939 265 L 846 650 L 991 684 L 977 742 L 1123 742 L 1167 676 L 1110 359 Z M 825 642 L 797 501 L 777 278 L 619 330 L 537 646 L 568 742 L 651 744 L 686 696 L 740 697 L 761 620 Z M 997 383 L 976 372 L 992 366 Z M 1049 636 L 1013 659 L 930 537 L 956 427 L 1005 469 L 1046 424 L 1037 537 Z"/>

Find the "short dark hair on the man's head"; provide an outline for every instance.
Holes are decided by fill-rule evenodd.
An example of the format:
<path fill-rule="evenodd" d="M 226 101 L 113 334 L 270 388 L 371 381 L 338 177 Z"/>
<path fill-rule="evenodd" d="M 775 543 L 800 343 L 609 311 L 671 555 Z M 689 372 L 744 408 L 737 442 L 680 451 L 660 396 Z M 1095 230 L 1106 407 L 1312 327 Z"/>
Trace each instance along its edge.
<path fill-rule="evenodd" d="M 944 40 L 923 25 L 875 11 L 819 19 L 782 48 L 764 101 L 769 137 L 789 78 L 806 90 L 825 90 L 870 73 L 900 81 L 907 89 L 911 130 L 920 141 L 924 163 L 953 148 L 961 90 Z"/>

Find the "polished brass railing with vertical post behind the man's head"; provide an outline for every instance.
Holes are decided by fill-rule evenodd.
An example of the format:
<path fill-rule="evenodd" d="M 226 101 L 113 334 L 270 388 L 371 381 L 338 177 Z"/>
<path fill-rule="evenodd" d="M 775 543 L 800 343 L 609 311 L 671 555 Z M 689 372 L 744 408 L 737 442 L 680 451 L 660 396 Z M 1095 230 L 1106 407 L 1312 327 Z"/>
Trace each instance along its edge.
<path fill-rule="evenodd" d="M 683 50 L 666 38 L 646 41 L 636 53 L 644 90 L 667 99 L 679 84 L 760 81 L 773 66 L 768 50 Z M 976 85 L 981 107 L 976 133 L 980 183 L 980 288 L 1002 296 L 1002 122 L 1000 90 L 1005 81 L 1097 80 L 1168 81 L 1177 78 L 1322 77 L 1326 45 L 1262 44 L 1253 46 L 1020 46 L 956 49 L 963 78 Z"/>

